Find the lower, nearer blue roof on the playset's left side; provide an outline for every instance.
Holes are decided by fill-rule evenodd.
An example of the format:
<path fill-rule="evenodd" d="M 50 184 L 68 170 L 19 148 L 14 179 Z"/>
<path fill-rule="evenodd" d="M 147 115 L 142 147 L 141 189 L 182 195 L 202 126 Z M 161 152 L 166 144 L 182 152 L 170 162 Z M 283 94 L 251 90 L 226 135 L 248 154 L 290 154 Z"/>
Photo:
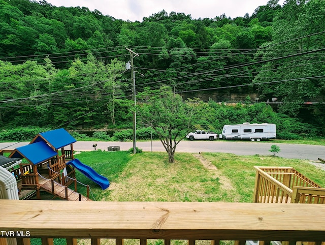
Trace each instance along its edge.
<path fill-rule="evenodd" d="M 11 158 L 25 158 L 30 163 L 36 165 L 55 157 L 56 152 L 45 142 L 40 141 L 16 148 L 11 154 Z"/>

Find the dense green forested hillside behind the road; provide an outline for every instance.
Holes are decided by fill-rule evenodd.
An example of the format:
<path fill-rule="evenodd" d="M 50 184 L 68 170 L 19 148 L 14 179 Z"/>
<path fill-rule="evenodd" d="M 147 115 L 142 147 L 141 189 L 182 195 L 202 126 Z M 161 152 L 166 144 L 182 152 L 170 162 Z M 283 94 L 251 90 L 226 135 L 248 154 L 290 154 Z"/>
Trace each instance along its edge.
<path fill-rule="evenodd" d="M 142 22 L 46 1 L 0 0 L 0 127 L 132 128 L 129 49 L 138 54 L 137 94 L 162 85 L 192 99 L 205 94 L 207 107 L 216 103 L 210 113 L 226 110 L 215 107 L 233 102 L 234 94 L 246 104 L 277 98 L 281 118 L 307 123 L 320 136 L 324 23 L 323 0 L 286 0 L 284 6 L 270 0 L 252 16 L 233 19 L 162 10 Z M 201 127 L 272 123 L 258 112 L 224 121 L 218 113 L 204 115 L 209 120 Z"/>

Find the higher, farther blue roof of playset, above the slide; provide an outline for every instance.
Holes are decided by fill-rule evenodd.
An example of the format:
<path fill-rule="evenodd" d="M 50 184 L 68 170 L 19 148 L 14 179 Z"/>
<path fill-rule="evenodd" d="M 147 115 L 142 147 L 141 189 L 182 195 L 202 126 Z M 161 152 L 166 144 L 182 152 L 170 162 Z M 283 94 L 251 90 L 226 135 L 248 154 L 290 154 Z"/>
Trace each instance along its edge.
<path fill-rule="evenodd" d="M 46 142 L 54 149 L 75 143 L 77 140 L 64 129 L 56 129 L 38 134 L 30 143 Z"/>

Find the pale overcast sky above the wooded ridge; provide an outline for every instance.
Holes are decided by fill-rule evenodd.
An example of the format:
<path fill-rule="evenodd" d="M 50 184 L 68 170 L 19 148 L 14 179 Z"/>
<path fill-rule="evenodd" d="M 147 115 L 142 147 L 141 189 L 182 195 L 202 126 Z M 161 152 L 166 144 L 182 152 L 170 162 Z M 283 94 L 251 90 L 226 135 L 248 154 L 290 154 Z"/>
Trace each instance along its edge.
<path fill-rule="evenodd" d="M 225 14 L 227 17 L 252 15 L 258 6 L 266 5 L 269 0 L 47 0 L 60 7 L 87 7 L 90 11 L 99 10 L 103 15 L 116 19 L 142 21 L 143 17 L 165 10 L 168 14 L 190 14 L 193 19 L 214 18 Z M 284 0 L 279 0 L 282 6 Z"/>

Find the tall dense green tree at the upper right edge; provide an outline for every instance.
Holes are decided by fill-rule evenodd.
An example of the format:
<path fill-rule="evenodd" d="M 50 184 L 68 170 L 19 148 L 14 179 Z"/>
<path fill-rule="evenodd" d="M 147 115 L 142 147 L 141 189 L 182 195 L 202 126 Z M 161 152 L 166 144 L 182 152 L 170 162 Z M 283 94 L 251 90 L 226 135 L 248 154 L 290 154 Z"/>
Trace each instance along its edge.
<path fill-rule="evenodd" d="M 316 97 L 323 100 L 322 52 L 309 51 L 322 48 L 325 42 L 322 34 L 315 34 L 325 20 L 324 11 L 323 1 L 286 1 L 273 22 L 272 45 L 258 52 L 266 62 L 254 81 L 271 82 L 259 86 L 261 96 L 277 97 L 283 102 L 281 112 L 297 116 L 306 100 Z M 308 19 L 306 16 L 310 12 L 315 15 Z"/>

